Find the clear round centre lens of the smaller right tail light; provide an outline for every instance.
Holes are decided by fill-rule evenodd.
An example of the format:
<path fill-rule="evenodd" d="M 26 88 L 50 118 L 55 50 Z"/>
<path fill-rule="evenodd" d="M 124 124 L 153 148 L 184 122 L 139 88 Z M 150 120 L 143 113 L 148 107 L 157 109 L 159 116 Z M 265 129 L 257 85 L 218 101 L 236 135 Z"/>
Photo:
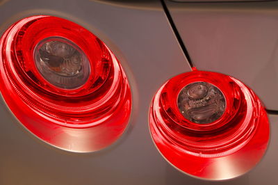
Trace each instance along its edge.
<path fill-rule="evenodd" d="M 185 86 L 178 97 L 179 111 L 191 122 L 211 123 L 224 113 L 226 101 L 211 83 L 194 82 Z"/>

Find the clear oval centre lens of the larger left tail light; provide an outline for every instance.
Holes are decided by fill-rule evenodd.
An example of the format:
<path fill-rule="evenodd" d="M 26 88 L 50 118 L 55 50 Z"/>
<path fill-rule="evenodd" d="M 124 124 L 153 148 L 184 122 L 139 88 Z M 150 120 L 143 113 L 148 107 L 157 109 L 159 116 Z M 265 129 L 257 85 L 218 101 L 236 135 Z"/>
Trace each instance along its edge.
<path fill-rule="evenodd" d="M 50 37 L 34 50 L 35 65 L 49 83 L 64 89 L 83 86 L 90 75 L 90 62 L 74 42 Z"/>

